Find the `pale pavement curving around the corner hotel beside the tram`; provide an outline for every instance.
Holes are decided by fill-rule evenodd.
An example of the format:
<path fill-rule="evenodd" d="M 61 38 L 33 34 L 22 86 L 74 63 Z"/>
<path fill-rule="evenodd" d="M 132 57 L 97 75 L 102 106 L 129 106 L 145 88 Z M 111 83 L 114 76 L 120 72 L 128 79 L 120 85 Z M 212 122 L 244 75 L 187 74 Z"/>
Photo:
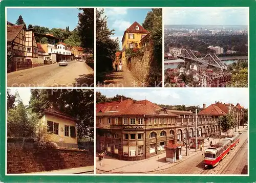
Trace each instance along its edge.
<path fill-rule="evenodd" d="M 246 128 L 246 127 L 245 127 Z M 242 127 L 239 127 L 240 131 L 243 131 Z M 238 131 L 238 130 L 237 130 Z M 231 131 L 229 133 L 231 135 Z M 224 135 L 224 133 L 223 133 Z M 227 133 L 226 133 L 227 136 Z M 212 141 L 212 144 L 215 144 L 219 142 L 220 139 L 213 139 L 209 138 L 209 142 L 207 141 L 207 138 L 205 139 L 205 144 L 203 147 L 203 150 L 210 147 L 210 141 Z M 116 158 L 112 158 L 110 156 L 105 156 L 103 158 L 103 161 L 98 161 L 98 157 L 96 158 L 96 172 L 97 170 L 103 171 L 104 173 L 150 173 L 158 170 L 164 170 L 168 169 L 170 167 L 176 166 L 181 162 L 186 161 L 186 159 L 193 157 L 199 153 L 202 153 L 203 151 L 200 151 L 200 149 L 189 149 L 188 155 L 186 156 L 186 146 L 182 146 L 182 159 L 176 161 L 176 163 L 170 163 L 166 162 L 165 159 L 165 151 L 161 154 L 157 154 L 155 156 L 152 156 L 147 159 L 143 159 L 140 161 L 122 161 Z"/>

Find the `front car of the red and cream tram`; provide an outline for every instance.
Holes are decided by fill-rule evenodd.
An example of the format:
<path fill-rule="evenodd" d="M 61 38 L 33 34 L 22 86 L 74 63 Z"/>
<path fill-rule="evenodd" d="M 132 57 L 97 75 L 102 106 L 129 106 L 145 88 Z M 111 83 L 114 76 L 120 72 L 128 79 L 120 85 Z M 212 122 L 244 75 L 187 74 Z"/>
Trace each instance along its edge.
<path fill-rule="evenodd" d="M 216 167 L 230 152 L 230 144 L 231 142 L 229 140 L 224 139 L 218 144 L 211 145 L 210 148 L 204 150 L 205 168 Z"/>

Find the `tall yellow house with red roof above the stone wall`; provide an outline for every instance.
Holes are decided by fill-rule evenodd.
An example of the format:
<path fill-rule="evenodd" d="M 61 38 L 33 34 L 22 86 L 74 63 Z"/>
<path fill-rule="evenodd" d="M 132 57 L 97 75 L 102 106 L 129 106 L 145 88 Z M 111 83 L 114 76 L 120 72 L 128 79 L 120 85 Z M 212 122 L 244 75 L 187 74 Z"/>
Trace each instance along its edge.
<path fill-rule="evenodd" d="M 137 21 L 124 31 L 122 37 L 122 63 L 124 65 L 127 64 L 125 50 L 140 48 L 140 40 L 148 33 Z"/>

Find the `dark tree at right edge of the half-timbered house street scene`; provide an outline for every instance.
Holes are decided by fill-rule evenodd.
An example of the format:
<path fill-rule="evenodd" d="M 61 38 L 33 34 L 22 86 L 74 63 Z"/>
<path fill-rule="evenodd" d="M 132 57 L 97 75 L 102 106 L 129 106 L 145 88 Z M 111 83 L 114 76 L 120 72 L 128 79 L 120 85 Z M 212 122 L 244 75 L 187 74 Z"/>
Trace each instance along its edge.
<path fill-rule="evenodd" d="M 87 52 L 94 51 L 94 9 L 79 9 L 77 30 L 81 38 L 81 47 Z"/>

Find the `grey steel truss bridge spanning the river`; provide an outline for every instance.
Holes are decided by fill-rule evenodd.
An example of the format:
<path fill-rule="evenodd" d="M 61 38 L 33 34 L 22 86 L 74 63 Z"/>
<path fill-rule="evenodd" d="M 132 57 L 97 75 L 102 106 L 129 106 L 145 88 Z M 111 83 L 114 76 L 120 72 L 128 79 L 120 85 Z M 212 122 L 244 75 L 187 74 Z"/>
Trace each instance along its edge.
<path fill-rule="evenodd" d="M 222 70 L 227 70 L 227 65 L 225 65 L 216 54 L 207 54 L 203 58 L 197 58 L 196 55 L 190 49 L 183 49 L 180 55 L 178 55 L 178 58 L 197 61 L 214 67 L 218 67 Z"/>

